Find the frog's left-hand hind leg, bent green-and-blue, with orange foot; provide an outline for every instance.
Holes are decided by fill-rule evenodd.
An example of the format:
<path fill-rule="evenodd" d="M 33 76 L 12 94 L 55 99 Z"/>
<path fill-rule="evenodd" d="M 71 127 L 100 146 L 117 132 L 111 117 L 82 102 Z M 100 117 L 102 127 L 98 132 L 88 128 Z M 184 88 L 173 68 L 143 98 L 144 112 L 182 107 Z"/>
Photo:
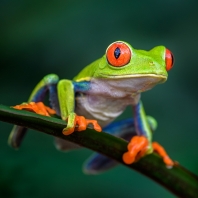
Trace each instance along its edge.
<path fill-rule="evenodd" d="M 30 109 L 31 104 L 39 103 L 39 105 L 41 105 L 41 108 L 43 108 L 43 107 L 46 108 L 47 113 L 53 114 L 56 112 L 56 114 L 59 115 L 60 110 L 59 110 L 59 105 L 58 105 L 57 88 L 56 88 L 58 81 L 59 81 L 59 78 L 55 74 L 49 74 L 49 75 L 45 76 L 37 84 L 37 86 L 34 88 L 32 94 L 30 95 L 30 98 L 28 100 L 28 103 L 30 104 L 28 107 L 29 109 L 28 108 L 27 109 L 21 108 L 21 109 L 26 109 L 26 110 L 31 111 L 31 109 Z M 49 101 L 50 101 L 50 105 L 53 109 L 48 108 L 45 105 L 43 105 L 43 103 L 41 103 L 44 100 L 47 93 L 49 93 Z M 23 105 L 25 105 L 25 104 L 28 105 L 28 103 L 23 103 L 21 105 L 21 107 L 23 107 Z M 17 106 L 20 107 L 20 105 L 17 105 Z M 22 141 L 24 135 L 26 134 L 26 131 L 27 131 L 27 128 L 15 125 L 9 135 L 8 143 L 12 147 L 18 148 L 21 144 L 21 141 Z"/>

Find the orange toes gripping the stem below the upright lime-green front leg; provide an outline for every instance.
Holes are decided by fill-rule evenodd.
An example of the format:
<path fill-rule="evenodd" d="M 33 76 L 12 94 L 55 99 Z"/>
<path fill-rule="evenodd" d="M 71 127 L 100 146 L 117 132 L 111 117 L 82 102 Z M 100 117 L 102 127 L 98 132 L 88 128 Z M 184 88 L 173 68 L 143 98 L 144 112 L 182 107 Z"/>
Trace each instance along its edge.
<path fill-rule="evenodd" d="M 98 131 L 98 132 L 102 131 L 101 126 L 98 124 L 98 122 L 96 120 L 88 120 L 84 116 L 76 115 L 75 116 L 75 121 L 74 121 L 74 127 L 70 128 L 70 129 L 67 129 L 67 130 L 63 130 L 63 134 L 64 135 L 70 135 L 75 130 L 76 131 L 84 131 L 89 124 L 92 124 L 93 128 L 96 131 Z"/>

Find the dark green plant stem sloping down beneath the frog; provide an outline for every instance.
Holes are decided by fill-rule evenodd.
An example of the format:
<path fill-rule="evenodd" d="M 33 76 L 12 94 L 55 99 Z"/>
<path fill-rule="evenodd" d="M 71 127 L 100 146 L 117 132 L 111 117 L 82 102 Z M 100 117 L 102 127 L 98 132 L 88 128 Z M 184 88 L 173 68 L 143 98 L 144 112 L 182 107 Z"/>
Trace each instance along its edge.
<path fill-rule="evenodd" d="M 0 120 L 32 128 L 102 153 L 150 177 L 179 197 L 198 197 L 198 177 L 179 164 L 172 169 L 167 169 L 162 159 L 155 153 L 145 156 L 137 163 L 124 164 L 122 154 L 127 150 L 127 142 L 123 139 L 104 132 L 98 133 L 93 129 L 65 136 L 62 134 L 62 129 L 66 126 L 63 120 L 16 110 L 4 105 L 0 105 Z"/>

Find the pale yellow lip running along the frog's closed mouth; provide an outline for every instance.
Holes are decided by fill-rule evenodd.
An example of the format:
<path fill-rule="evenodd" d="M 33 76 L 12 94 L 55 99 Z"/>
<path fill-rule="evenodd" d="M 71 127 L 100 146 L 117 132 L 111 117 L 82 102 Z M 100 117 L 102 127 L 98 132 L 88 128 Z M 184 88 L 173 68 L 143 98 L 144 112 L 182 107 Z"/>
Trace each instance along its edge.
<path fill-rule="evenodd" d="M 161 74 L 127 74 L 127 75 L 107 75 L 107 74 L 100 74 L 103 78 L 108 79 L 123 79 L 123 78 L 153 78 L 153 79 L 160 79 L 161 83 L 167 80 L 167 76 Z"/>

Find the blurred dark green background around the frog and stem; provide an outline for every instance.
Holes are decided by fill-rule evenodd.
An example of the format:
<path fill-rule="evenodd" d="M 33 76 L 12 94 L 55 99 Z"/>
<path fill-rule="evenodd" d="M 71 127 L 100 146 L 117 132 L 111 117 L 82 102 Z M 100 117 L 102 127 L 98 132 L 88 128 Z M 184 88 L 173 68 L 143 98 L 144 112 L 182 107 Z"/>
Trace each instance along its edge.
<path fill-rule="evenodd" d="M 26 101 L 46 74 L 73 78 L 115 40 L 145 50 L 165 45 L 174 53 L 174 68 L 142 100 L 159 123 L 154 140 L 197 174 L 197 7 L 195 0 L 1 0 L 0 103 Z M 174 197 L 123 166 L 84 175 L 81 167 L 92 151 L 58 152 L 42 133 L 30 130 L 15 151 L 7 145 L 11 128 L 0 123 L 0 197 Z"/>

